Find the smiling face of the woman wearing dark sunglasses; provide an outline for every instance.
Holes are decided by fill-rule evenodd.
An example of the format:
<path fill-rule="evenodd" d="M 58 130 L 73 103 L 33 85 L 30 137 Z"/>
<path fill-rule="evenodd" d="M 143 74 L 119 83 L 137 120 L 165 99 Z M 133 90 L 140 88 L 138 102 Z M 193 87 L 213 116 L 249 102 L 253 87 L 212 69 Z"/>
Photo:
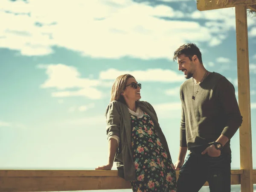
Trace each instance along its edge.
<path fill-rule="evenodd" d="M 123 91 L 122 95 L 127 101 L 134 101 L 136 102 L 141 98 L 140 96 L 140 89 L 141 85 L 138 85 L 138 82 L 134 78 L 129 78 L 125 85 L 125 90 Z M 137 88 L 134 88 L 137 87 Z"/>

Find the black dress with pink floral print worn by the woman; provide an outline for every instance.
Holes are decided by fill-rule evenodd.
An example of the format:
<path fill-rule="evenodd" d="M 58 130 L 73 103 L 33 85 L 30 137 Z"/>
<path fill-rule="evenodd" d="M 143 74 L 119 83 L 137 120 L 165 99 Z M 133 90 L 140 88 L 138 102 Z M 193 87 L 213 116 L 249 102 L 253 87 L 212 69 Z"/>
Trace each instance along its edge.
<path fill-rule="evenodd" d="M 151 117 L 130 113 L 133 159 L 137 181 L 133 192 L 176 192 L 176 173 L 171 159 L 158 138 Z"/>

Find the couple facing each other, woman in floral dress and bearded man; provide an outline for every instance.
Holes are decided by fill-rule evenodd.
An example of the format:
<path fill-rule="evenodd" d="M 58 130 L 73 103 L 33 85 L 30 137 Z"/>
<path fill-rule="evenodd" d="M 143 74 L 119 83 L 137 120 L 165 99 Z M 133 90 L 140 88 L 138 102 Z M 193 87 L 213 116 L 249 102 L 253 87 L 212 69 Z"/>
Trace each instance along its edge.
<path fill-rule="evenodd" d="M 110 170 L 117 162 L 119 177 L 131 182 L 133 192 L 198 192 L 206 181 L 211 192 L 230 192 L 230 139 L 242 122 L 234 86 L 204 68 L 195 44 L 180 46 L 173 58 L 188 79 L 180 86 L 177 162 L 172 163 L 154 108 L 140 101 L 141 84 L 125 74 L 114 81 L 105 114 L 108 164 L 96 170 Z"/>

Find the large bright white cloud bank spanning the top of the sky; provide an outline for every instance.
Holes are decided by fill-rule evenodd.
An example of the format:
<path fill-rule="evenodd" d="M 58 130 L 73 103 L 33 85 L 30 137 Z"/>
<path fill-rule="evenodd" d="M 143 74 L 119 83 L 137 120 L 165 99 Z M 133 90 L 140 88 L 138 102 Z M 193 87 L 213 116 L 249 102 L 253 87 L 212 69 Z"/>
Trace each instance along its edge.
<path fill-rule="evenodd" d="M 28 2 L 2 0 L 0 10 L 0 17 L 5 18 L 0 20 L 0 47 L 19 50 L 23 55 L 49 54 L 57 46 L 91 57 L 172 59 L 171 53 L 183 43 L 216 46 L 227 37 L 228 30 L 235 29 L 232 9 L 195 11 L 191 17 L 169 6 L 132 0 Z M 177 20 L 181 17 L 183 20 Z M 211 23 L 202 26 L 201 19 Z M 249 26 L 255 23 L 248 21 Z"/>

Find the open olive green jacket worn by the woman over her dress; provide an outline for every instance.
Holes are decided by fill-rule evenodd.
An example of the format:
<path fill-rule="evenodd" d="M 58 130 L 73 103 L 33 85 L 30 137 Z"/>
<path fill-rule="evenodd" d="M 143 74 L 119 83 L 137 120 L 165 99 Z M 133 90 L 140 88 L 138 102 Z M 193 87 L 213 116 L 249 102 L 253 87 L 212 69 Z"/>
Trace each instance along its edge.
<path fill-rule="evenodd" d="M 151 117 L 160 142 L 166 149 L 169 158 L 171 158 L 166 138 L 160 128 L 154 108 L 145 101 L 138 101 L 137 104 L 142 111 L 148 113 L 148 115 Z M 108 137 L 116 135 L 120 138 L 119 148 L 116 152 L 114 160 L 115 162 L 118 162 L 118 176 L 124 178 L 125 180 L 134 181 L 137 178 L 131 147 L 131 120 L 128 107 L 122 102 L 113 101 L 108 105 L 105 117 L 107 122 Z"/>

